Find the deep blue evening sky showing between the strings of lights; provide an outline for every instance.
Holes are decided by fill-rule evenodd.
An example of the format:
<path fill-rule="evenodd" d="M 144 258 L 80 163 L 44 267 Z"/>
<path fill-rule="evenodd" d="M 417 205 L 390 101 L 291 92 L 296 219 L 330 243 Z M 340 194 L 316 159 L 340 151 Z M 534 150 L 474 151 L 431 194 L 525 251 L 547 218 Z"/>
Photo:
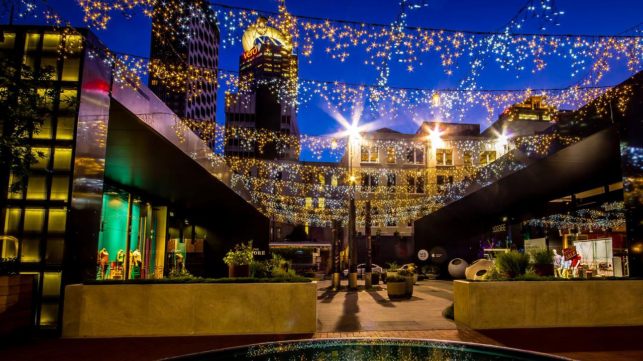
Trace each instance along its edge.
<path fill-rule="evenodd" d="M 276 0 L 219 0 L 219 2 L 255 8 L 257 10 L 277 11 Z M 51 0 L 51 6 L 74 26 L 84 26 L 83 13 L 74 0 Z M 496 0 L 496 1 L 448 1 L 426 0 L 428 6 L 408 13 L 408 26 L 421 26 L 426 28 L 446 28 L 453 30 L 494 31 L 506 24 L 520 8 L 525 0 Z M 538 30 L 538 21 L 527 21 L 521 31 L 525 33 L 561 33 L 561 34 L 601 34 L 611 35 L 631 28 L 643 21 L 643 1 L 633 0 L 557 0 L 559 10 L 565 12 L 559 18 L 560 26 L 548 26 L 546 31 Z M 376 22 L 390 24 L 395 19 L 399 9 L 398 1 L 392 0 L 290 0 L 287 1 L 289 12 L 294 15 L 309 15 L 330 19 L 345 19 L 359 22 Z M 96 35 L 114 51 L 149 56 L 150 27 L 148 17 L 138 11 L 132 19 L 125 19 L 118 13 L 113 13 L 107 30 L 94 30 Z M 7 18 L 3 19 L 6 23 Z M 24 21 L 17 21 L 21 23 Z M 29 23 L 42 23 L 37 19 L 28 19 Z M 239 35 L 242 30 L 239 30 Z M 240 36 L 239 36 L 240 37 Z M 372 66 L 365 66 L 365 55 L 360 53 L 361 47 L 350 49 L 350 57 L 340 63 L 327 56 L 323 49 L 327 42 L 318 41 L 310 58 L 312 64 L 301 61 L 299 74 L 302 78 L 315 80 L 330 80 L 358 84 L 375 84 L 377 71 Z M 242 53 L 240 42 L 232 48 L 220 49 L 219 66 L 224 69 L 239 69 L 239 55 Z M 548 59 L 552 59 L 549 57 Z M 468 66 L 467 57 L 461 58 L 460 69 L 448 76 L 440 65 L 439 54 L 433 51 L 422 66 L 415 67 L 412 73 L 406 67 L 393 62 L 389 85 L 420 88 L 447 88 L 452 87 Z M 530 64 L 525 64 L 529 66 Z M 458 73 L 458 70 L 460 71 Z M 479 84 L 485 89 L 530 89 L 566 87 L 577 78 L 570 76 L 570 62 L 550 62 L 545 70 L 531 74 L 525 72 L 520 78 L 511 71 L 503 71 L 497 64 L 489 63 L 485 73 L 480 77 Z M 629 71 L 623 61 L 613 62 L 612 70 L 604 77 L 601 85 L 615 85 L 626 79 Z M 145 80 L 147 82 L 147 80 Z M 223 96 L 219 94 L 217 106 L 217 121 L 224 120 Z M 365 114 L 368 112 L 365 112 Z M 345 114 L 346 118 L 350 114 Z M 365 117 L 368 117 L 365 115 Z M 368 121 L 369 119 L 365 119 Z M 432 119 L 424 119 L 432 120 Z M 480 123 L 485 128 L 489 123 L 485 113 L 471 112 L 466 119 L 467 123 Z M 324 105 L 319 98 L 313 98 L 304 105 L 298 114 L 300 132 L 305 134 L 331 134 L 341 127 L 324 110 Z M 399 116 L 386 124 L 390 128 L 402 132 L 415 132 L 417 123 L 410 116 Z"/>

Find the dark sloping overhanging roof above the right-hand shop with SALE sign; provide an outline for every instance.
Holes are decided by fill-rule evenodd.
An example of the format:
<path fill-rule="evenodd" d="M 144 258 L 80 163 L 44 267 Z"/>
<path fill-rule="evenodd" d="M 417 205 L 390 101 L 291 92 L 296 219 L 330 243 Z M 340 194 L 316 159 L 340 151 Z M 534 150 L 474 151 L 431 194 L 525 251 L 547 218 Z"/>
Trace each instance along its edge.
<path fill-rule="evenodd" d="M 617 126 L 540 159 L 416 221 L 457 225 L 506 211 L 527 211 L 579 191 L 622 180 Z"/>

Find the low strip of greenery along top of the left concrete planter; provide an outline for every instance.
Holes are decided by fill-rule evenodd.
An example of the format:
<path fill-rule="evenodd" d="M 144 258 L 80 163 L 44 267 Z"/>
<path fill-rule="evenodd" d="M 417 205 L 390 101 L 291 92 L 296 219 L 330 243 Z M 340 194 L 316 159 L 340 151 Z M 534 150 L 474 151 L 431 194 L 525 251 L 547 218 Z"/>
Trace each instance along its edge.
<path fill-rule="evenodd" d="M 159 278 L 159 279 L 91 279 L 85 285 L 174 285 L 185 283 L 310 283 L 311 279 L 306 277 L 282 277 L 282 278 Z"/>

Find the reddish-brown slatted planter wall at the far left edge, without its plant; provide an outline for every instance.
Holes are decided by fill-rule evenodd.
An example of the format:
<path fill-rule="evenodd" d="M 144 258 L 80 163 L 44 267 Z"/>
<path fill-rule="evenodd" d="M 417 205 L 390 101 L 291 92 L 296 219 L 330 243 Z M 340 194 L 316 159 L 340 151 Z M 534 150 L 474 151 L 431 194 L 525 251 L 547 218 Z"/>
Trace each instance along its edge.
<path fill-rule="evenodd" d="M 0 276 L 0 334 L 32 324 L 33 275 Z"/>

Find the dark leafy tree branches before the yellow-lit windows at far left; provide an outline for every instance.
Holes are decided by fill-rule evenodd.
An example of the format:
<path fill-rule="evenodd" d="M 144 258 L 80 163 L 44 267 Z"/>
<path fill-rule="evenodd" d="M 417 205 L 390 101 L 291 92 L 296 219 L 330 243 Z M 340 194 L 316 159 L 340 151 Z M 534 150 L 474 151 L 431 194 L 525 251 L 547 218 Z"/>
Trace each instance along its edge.
<path fill-rule="evenodd" d="M 45 157 L 43 152 L 33 152 L 29 136 L 41 132 L 43 119 L 50 116 L 57 98 L 52 66 L 32 70 L 23 65 L 18 75 L 15 65 L 0 54 L 0 177 L 14 175 L 8 184 L 10 193 L 25 188 L 28 167 Z"/>

